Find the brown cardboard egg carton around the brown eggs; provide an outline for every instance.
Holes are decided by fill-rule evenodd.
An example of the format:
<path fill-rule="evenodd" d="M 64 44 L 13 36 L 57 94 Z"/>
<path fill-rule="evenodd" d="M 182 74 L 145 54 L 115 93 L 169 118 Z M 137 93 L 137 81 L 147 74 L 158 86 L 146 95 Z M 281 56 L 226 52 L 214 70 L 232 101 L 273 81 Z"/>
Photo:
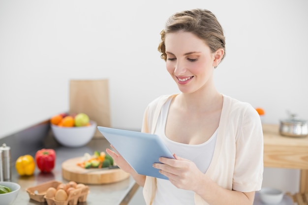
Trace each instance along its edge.
<path fill-rule="evenodd" d="M 62 181 L 51 180 L 41 183 L 37 186 L 29 187 L 26 189 L 26 191 L 32 200 L 40 203 L 47 202 L 47 205 L 77 205 L 78 202 L 87 201 L 87 196 L 89 194 L 89 186 L 87 185 L 82 188 L 77 188 L 70 191 L 66 201 L 57 201 L 54 197 L 46 197 L 48 188 L 54 187 L 57 189 L 58 185 L 62 183 Z"/>

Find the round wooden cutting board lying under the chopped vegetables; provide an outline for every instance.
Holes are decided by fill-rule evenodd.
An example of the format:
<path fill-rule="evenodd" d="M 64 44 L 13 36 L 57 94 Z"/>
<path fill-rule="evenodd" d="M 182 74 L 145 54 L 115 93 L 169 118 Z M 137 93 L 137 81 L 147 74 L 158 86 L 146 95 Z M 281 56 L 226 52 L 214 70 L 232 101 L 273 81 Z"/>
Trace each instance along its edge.
<path fill-rule="evenodd" d="M 77 165 L 77 163 L 81 161 L 82 157 L 64 161 L 62 163 L 62 177 L 69 181 L 76 181 L 77 183 L 84 184 L 108 184 L 122 181 L 129 177 L 129 174 L 121 169 L 97 171 L 95 171 L 94 168 L 84 169 Z"/>

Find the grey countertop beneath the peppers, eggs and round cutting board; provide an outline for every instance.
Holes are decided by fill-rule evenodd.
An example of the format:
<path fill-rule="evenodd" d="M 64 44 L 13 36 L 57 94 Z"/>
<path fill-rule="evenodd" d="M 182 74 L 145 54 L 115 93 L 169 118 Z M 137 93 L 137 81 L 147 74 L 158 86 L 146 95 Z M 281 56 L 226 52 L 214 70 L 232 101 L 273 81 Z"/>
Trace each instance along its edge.
<path fill-rule="evenodd" d="M 52 139 L 49 140 L 52 141 Z M 105 151 L 105 149 L 110 146 L 110 144 L 103 138 L 93 139 L 88 145 L 78 148 L 69 148 L 64 146 L 54 147 L 53 145 L 55 142 L 50 141 L 48 141 L 47 144 L 54 148 L 57 154 L 56 166 L 52 173 L 43 174 L 36 168 L 33 176 L 19 176 L 15 167 L 12 167 L 11 181 L 17 182 L 21 185 L 21 190 L 14 202 L 14 205 L 44 204 L 31 200 L 26 192 L 26 188 L 54 179 L 66 183 L 68 181 L 62 178 L 62 162 L 70 158 L 83 156 L 85 152 L 93 153 L 94 150 Z M 33 151 L 31 155 L 34 156 L 35 152 Z M 13 164 L 14 163 L 12 163 L 12 166 Z M 84 203 L 78 203 L 78 205 L 127 205 L 139 186 L 135 183 L 132 177 L 129 176 L 127 179 L 120 182 L 102 185 L 89 185 L 89 187 L 90 193 L 88 194 L 87 201 Z M 47 203 L 45 204 L 47 205 Z"/>

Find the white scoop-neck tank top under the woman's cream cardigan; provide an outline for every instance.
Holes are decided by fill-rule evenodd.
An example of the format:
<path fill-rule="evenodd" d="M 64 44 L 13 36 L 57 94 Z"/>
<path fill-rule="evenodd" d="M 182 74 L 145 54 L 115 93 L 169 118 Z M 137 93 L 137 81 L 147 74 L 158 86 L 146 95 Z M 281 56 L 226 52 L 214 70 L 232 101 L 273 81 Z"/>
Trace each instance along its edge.
<path fill-rule="evenodd" d="M 172 153 L 193 161 L 202 173 L 205 173 L 213 158 L 217 138 L 217 130 L 205 143 L 199 145 L 187 145 L 171 141 L 165 135 L 165 125 L 171 99 L 166 102 L 157 120 L 155 134 L 162 138 Z M 194 205 L 194 192 L 178 189 L 169 180 L 156 178 L 157 191 L 153 205 Z"/>

